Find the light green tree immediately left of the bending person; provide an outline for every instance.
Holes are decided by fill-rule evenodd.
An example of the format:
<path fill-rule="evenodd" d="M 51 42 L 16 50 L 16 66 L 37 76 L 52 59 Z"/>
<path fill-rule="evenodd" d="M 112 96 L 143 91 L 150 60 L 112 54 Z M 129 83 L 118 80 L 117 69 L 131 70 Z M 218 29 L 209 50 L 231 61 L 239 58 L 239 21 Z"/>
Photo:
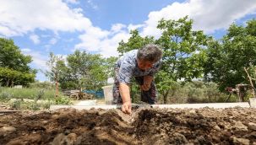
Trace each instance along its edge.
<path fill-rule="evenodd" d="M 67 57 L 68 67 L 79 88 L 99 89 L 106 82 L 106 74 L 103 69 L 104 59 L 101 55 L 88 54 L 85 51 L 74 51 Z"/>

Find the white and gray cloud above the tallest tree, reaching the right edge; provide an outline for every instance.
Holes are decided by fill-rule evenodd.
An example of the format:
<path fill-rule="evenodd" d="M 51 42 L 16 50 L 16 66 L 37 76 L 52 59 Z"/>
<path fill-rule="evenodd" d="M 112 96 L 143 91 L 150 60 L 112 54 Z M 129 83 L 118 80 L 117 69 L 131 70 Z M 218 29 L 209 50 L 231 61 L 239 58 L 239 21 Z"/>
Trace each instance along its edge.
<path fill-rule="evenodd" d="M 150 12 L 144 24 L 142 35 L 159 36 L 160 30 L 156 29 L 161 18 L 179 19 L 186 15 L 194 20 L 194 30 L 204 30 L 212 33 L 215 30 L 226 29 L 237 19 L 248 13 L 255 13 L 255 0 L 190 0 L 184 3 L 172 3 L 160 11 Z"/>

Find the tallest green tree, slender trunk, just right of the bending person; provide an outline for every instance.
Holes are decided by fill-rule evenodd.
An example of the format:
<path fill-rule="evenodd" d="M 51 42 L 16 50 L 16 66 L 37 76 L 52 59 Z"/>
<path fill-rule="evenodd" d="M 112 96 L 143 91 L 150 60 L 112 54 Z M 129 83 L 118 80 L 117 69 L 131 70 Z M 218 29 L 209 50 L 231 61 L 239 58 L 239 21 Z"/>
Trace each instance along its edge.
<path fill-rule="evenodd" d="M 206 59 L 204 49 L 210 37 L 201 30 L 193 31 L 192 24 L 193 20 L 187 16 L 178 20 L 161 19 L 157 25 L 162 34 L 156 44 L 162 47 L 163 58 L 156 81 L 164 103 L 178 79 L 191 81 L 202 77 Z"/>

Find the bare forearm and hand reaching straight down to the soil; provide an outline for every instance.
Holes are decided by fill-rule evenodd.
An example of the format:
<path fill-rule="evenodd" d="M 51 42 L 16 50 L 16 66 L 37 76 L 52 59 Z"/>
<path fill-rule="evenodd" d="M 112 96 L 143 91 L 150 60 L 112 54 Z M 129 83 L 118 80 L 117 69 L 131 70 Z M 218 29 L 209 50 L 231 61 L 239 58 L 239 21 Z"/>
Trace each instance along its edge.
<path fill-rule="evenodd" d="M 126 83 L 120 83 L 119 90 L 123 100 L 122 111 L 123 113 L 131 114 L 132 103 L 131 103 L 131 96 L 130 96 L 130 87 Z"/>

